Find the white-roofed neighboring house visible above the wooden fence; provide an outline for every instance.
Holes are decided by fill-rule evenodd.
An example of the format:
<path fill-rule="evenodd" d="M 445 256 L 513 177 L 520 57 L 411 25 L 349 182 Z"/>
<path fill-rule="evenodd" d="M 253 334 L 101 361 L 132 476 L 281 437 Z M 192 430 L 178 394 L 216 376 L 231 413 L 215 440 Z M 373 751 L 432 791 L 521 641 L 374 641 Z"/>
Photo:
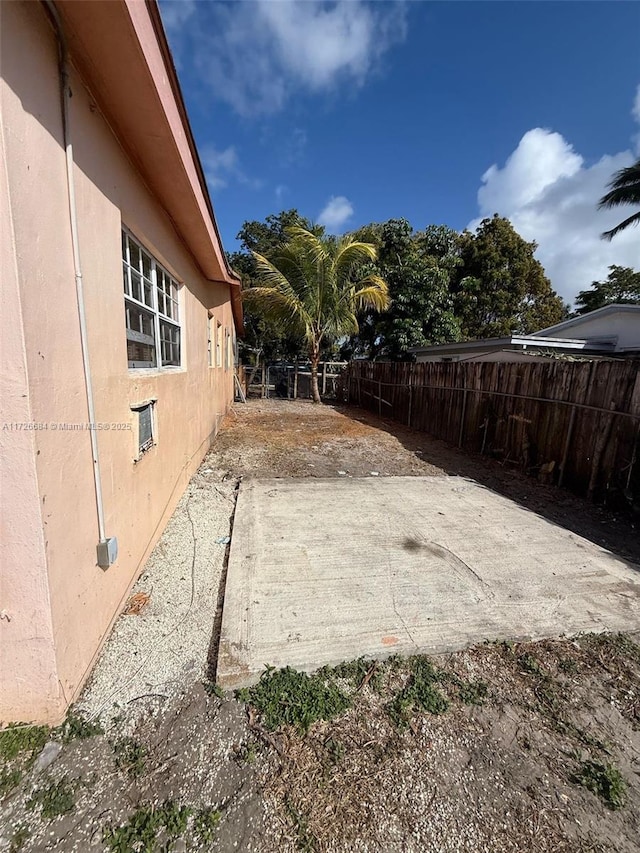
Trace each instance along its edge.
<path fill-rule="evenodd" d="M 549 356 L 640 357 L 640 305 L 606 305 L 531 335 L 412 347 L 417 362 L 543 361 Z"/>

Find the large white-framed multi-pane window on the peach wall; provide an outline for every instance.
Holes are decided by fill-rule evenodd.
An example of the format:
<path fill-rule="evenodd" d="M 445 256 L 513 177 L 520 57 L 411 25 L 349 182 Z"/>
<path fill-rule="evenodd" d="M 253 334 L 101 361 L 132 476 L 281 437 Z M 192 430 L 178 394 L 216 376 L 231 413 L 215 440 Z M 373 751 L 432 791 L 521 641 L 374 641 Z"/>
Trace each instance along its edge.
<path fill-rule="evenodd" d="M 129 367 L 179 367 L 180 286 L 124 229 L 122 277 Z"/>

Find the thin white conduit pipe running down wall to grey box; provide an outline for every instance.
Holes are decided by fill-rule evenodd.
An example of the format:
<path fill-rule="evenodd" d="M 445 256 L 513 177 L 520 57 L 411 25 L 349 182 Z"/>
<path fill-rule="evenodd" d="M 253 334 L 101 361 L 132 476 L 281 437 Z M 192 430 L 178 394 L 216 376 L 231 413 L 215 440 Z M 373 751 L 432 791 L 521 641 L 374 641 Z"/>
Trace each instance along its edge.
<path fill-rule="evenodd" d="M 91 366 L 89 362 L 89 344 L 87 338 L 87 319 L 84 304 L 84 288 L 82 283 L 82 267 L 80 264 L 80 242 L 78 239 L 78 212 L 76 207 L 75 182 L 73 177 L 73 145 L 71 141 L 71 124 L 69 120 L 69 60 L 62 22 L 58 10 L 52 0 L 43 0 L 52 18 L 58 38 L 60 54 L 60 88 L 62 100 L 62 133 L 65 147 L 67 195 L 69 200 L 69 223 L 71 226 L 71 244 L 73 247 L 73 267 L 76 282 L 76 298 L 78 304 L 78 319 L 80 322 L 80 346 L 82 349 L 82 365 L 84 368 L 84 384 L 89 415 L 89 438 L 91 441 L 91 457 L 93 461 L 93 481 L 95 486 L 96 511 L 98 516 L 98 565 L 105 569 L 115 562 L 117 557 L 117 540 L 107 538 L 104 523 L 104 503 L 102 499 L 102 478 L 100 475 L 100 458 L 98 455 L 98 433 L 95 428 L 96 416 L 93 401 L 93 386 L 91 382 Z"/>

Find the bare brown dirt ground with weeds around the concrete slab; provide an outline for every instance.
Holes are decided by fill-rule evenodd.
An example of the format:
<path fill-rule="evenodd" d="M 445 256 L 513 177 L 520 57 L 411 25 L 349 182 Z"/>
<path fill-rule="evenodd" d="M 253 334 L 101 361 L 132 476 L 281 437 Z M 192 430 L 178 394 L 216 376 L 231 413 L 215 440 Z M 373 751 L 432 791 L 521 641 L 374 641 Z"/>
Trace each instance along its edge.
<path fill-rule="evenodd" d="M 195 481 L 398 474 L 474 477 L 640 562 L 632 519 L 358 410 L 238 405 Z M 0 733 L 0 851 L 640 850 L 640 634 L 266 673 L 239 698 L 211 663 L 157 707 Z"/>

